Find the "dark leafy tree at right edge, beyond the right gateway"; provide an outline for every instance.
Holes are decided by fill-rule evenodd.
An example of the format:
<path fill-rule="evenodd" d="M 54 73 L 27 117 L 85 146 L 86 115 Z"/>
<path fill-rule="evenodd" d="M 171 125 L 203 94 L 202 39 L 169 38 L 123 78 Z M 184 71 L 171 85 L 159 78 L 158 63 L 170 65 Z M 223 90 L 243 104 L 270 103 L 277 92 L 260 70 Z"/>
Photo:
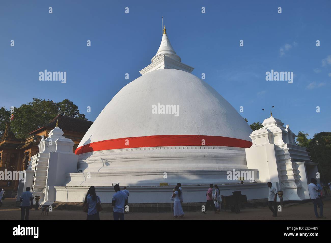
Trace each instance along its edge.
<path fill-rule="evenodd" d="M 316 141 L 318 141 L 318 145 L 316 145 Z M 331 132 L 316 133 L 309 140 L 307 151 L 311 161 L 319 163 L 320 179 L 325 180 L 325 183 L 331 182 Z"/>

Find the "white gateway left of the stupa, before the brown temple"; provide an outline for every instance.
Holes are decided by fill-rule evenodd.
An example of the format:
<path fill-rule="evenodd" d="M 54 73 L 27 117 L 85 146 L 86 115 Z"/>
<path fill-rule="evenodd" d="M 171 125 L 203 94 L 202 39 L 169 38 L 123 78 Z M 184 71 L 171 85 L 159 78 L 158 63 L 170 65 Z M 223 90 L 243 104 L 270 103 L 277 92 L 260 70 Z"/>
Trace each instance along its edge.
<path fill-rule="evenodd" d="M 41 139 L 38 154 L 31 157 L 31 162 L 24 171 L 27 182 L 19 185 L 21 192 L 25 190 L 24 187 L 31 187 L 33 183 L 32 194 L 40 196 L 41 204 L 53 204 L 56 196 L 54 186 L 65 185 L 66 173 L 77 172 L 78 155 L 72 151 L 74 142 L 63 137 L 63 134 L 57 124 L 49 132 L 47 139 Z M 33 174 L 34 180 L 31 178 Z"/>

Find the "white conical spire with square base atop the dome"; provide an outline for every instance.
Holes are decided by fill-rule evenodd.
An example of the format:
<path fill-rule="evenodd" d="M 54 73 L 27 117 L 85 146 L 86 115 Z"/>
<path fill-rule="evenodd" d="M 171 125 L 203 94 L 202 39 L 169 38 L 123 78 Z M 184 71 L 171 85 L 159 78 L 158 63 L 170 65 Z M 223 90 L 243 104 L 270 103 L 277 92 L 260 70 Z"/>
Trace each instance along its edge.
<path fill-rule="evenodd" d="M 181 63 L 180 57 L 173 50 L 168 35 L 166 34 L 166 26 L 163 29 L 162 41 L 158 52 L 152 58 L 152 63 L 149 64 L 144 69 L 140 70 L 140 73 L 144 75 L 145 73 L 158 70 L 158 69 L 177 69 L 185 72 L 191 73 L 193 67 Z"/>

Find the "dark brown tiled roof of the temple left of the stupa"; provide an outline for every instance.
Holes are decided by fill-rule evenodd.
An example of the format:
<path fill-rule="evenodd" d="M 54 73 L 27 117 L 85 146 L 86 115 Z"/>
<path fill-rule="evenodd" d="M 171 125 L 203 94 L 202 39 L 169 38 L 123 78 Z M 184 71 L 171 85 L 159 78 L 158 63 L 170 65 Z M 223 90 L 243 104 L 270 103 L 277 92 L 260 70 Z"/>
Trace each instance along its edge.
<path fill-rule="evenodd" d="M 62 130 L 83 133 L 85 134 L 90 126 L 93 124 L 91 121 L 86 121 L 78 118 L 72 118 L 69 116 L 57 115 L 46 125 L 30 132 L 29 134 L 35 134 L 43 129 L 53 129 L 56 125 L 56 121 L 59 119 L 59 127 Z"/>

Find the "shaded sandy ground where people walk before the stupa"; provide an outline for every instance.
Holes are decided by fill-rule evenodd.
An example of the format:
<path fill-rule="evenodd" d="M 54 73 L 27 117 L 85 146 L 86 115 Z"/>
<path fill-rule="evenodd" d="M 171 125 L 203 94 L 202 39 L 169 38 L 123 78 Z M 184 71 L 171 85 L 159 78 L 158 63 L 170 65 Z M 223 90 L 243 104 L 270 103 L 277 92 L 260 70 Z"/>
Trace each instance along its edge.
<path fill-rule="evenodd" d="M 169 213 L 138 213 L 128 212 L 125 214 L 125 220 L 330 220 L 331 219 L 331 200 L 324 200 L 323 215 L 326 219 L 316 219 L 314 215 L 312 202 L 305 204 L 292 204 L 282 207 L 282 212 L 278 212 L 276 218 L 268 207 L 241 209 L 239 214 L 231 211 L 222 211 L 214 214 L 208 211 L 207 214 L 202 212 L 185 212 L 184 218 L 173 218 Z M 319 209 L 317 209 L 319 212 Z M 3 200 L 3 206 L 0 208 L 0 220 L 20 220 L 21 209 L 15 203 L 15 199 Z M 49 212 L 48 216 L 41 215 L 41 210 L 30 210 L 29 220 L 86 220 L 86 213 L 73 210 L 54 210 Z M 113 220 L 112 212 L 100 212 L 100 220 Z"/>

